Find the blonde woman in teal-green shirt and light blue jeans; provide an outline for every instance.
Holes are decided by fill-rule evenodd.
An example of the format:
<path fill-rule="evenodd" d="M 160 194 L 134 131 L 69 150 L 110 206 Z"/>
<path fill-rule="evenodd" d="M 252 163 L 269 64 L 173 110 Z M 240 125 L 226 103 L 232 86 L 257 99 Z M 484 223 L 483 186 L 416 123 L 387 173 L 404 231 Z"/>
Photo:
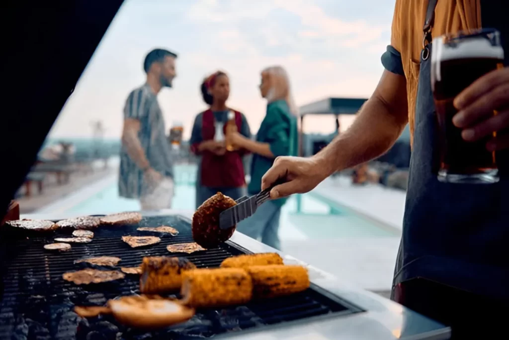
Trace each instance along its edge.
<path fill-rule="evenodd" d="M 270 169 L 277 156 L 296 155 L 297 109 L 293 101 L 288 74 L 281 66 L 272 66 L 261 73 L 260 93 L 267 99 L 267 113 L 258 130 L 256 141 L 236 133 L 232 141 L 238 147 L 253 153 L 249 195 L 261 191 L 262 176 Z M 262 204 L 250 218 L 240 222 L 237 230 L 273 248 L 280 249 L 278 229 L 281 207 L 286 199 Z"/>

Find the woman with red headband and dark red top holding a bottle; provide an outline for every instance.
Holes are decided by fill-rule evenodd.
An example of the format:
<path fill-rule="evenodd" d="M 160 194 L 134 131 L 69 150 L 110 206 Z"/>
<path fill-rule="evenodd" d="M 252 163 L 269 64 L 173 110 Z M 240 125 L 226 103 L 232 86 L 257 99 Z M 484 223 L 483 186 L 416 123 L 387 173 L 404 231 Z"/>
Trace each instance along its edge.
<path fill-rule="evenodd" d="M 196 116 L 190 139 L 191 151 L 201 156 L 196 176 L 196 208 L 217 192 L 233 199 L 246 195 L 242 157 L 247 150 L 226 149 L 224 136 L 229 115 L 234 117 L 238 132 L 251 138 L 246 117 L 227 107 L 230 80 L 226 73 L 217 71 L 207 77 L 201 91 L 210 107 Z"/>

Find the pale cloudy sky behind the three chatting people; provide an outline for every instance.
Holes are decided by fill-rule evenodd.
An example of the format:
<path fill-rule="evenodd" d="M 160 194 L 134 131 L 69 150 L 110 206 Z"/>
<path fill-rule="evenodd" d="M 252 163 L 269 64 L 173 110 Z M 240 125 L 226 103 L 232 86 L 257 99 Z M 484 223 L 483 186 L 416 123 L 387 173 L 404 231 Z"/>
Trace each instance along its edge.
<path fill-rule="evenodd" d="M 394 0 L 126 0 L 68 99 L 51 137 L 91 137 L 101 120 L 118 138 L 129 92 L 145 82 L 142 62 L 154 47 L 175 51 L 177 77 L 158 100 L 166 129 L 190 135 L 207 107 L 199 87 L 216 70 L 230 76 L 229 106 L 256 133 L 265 115 L 260 72 L 281 65 L 298 106 L 330 96 L 368 98 L 390 41 Z M 353 117 L 341 117 L 342 129 Z M 331 133 L 332 117 L 305 118 L 305 132 Z"/>

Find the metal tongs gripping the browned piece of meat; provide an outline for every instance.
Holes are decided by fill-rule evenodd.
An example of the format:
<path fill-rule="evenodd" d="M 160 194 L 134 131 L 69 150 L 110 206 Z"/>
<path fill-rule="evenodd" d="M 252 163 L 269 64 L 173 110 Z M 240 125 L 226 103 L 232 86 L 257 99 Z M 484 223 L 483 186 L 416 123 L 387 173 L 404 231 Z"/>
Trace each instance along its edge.
<path fill-rule="evenodd" d="M 252 216 L 257 208 L 270 199 L 270 191 L 275 186 L 283 184 L 285 180 L 276 180 L 269 188 L 260 191 L 257 195 L 242 196 L 235 202 L 236 205 L 228 208 L 219 215 L 219 228 L 228 229 L 240 221 Z"/>

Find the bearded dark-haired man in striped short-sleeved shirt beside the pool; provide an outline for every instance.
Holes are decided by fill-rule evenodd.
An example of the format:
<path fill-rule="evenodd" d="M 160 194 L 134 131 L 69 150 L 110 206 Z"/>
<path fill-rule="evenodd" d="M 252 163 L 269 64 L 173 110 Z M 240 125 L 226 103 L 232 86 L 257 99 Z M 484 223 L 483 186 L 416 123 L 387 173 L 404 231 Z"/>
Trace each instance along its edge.
<path fill-rule="evenodd" d="M 139 199 L 142 210 L 170 208 L 173 162 L 157 102 L 163 87 L 172 87 L 177 55 L 154 49 L 144 61 L 147 82 L 129 94 L 124 107 L 119 193 Z"/>

